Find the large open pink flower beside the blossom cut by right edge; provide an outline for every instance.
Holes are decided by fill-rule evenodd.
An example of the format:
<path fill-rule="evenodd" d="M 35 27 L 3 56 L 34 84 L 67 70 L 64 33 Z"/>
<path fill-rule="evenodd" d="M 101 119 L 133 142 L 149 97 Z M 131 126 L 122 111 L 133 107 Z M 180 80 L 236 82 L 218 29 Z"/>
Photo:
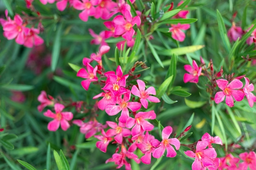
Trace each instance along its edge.
<path fill-rule="evenodd" d="M 243 83 L 239 79 L 234 79 L 230 83 L 225 79 L 217 79 L 216 83 L 218 87 L 222 90 L 217 92 L 214 97 L 214 101 L 216 102 L 216 104 L 222 102 L 226 97 L 226 104 L 229 107 L 233 107 L 234 99 L 239 102 L 245 97 L 245 93 L 243 93 L 243 91 L 235 90 L 243 87 Z"/>

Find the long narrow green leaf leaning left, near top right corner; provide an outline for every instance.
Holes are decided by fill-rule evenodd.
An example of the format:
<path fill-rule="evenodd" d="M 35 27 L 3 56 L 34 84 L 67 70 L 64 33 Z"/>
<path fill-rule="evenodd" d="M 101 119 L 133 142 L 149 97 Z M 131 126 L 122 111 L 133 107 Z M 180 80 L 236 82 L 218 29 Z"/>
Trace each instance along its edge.
<path fill-rule="evenodd" d="M 227 37 L 227 30 L 226 30 L 223 18 L 221 16 L 220 12 L 218 11 L 218 9 L 217 9 L 217 21 L 218 21 L 220 38 L 222 39 L 222 42 L 225 45 L 226 51 L 229 53 L 230 42 L 229 42 L 229 38 Z"/>

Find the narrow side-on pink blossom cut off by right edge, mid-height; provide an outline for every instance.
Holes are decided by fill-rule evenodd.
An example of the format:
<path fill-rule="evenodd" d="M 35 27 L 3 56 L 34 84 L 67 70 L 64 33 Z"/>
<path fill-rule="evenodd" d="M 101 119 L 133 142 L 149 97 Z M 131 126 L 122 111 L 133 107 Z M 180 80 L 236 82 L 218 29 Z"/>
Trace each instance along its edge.
<path fill-rule="evenodd" d="M 256 102 L 256 96 L 251 92 L 254 91 L 254 85 L 250 83 L 250 80 L 245 77 L 245 86 L 243 88 L 243 92 L 245 93 L 245 97 L 248 100 L 249 106 L 252 107 L 254 102 Z"/>

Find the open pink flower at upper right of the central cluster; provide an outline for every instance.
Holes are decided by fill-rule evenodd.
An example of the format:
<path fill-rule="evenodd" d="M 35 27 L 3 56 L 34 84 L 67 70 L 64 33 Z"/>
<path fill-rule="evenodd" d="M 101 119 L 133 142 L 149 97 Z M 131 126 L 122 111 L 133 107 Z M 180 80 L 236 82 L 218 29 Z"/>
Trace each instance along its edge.
<path fill-rule="evenodd" d="M 150 102 L 154 102 L 154 103 L 160 102 L 160 100 L 157 97 L 150 96 L 150 95 L 156 94 L 154 87 L 150 86 L 149 88 L 147 88 L 145 90 L 146 85 L 140 79 L 137 79 L 137 84 L 138 84 L 139 89 L 135 85 L 133 85 L 131 92 L 133 95 L 138 96 L 140 98 L 141 105 L 144 108 L 148 108 L 148 100 Z"/>

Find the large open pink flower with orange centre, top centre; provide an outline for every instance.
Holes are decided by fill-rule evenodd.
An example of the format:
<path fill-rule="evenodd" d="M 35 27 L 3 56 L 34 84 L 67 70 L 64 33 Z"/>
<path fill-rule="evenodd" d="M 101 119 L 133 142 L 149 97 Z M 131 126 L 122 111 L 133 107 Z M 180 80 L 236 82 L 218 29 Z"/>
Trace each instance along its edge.
<path fill-rule="evenodd" d="M 124 18 L 125 17 L 125 18 Z M 113 22 L 115 23 L 115 35 L 122 35 L 122 37 L 128 41 L 132 40 L 132 36 L 135 34 L 132 28 L 135 24 L 140 26 L 141 20 L 139 16 L 132 18 L 130 11 L 126 10 L 123 15 L 117 15 Z"/>

